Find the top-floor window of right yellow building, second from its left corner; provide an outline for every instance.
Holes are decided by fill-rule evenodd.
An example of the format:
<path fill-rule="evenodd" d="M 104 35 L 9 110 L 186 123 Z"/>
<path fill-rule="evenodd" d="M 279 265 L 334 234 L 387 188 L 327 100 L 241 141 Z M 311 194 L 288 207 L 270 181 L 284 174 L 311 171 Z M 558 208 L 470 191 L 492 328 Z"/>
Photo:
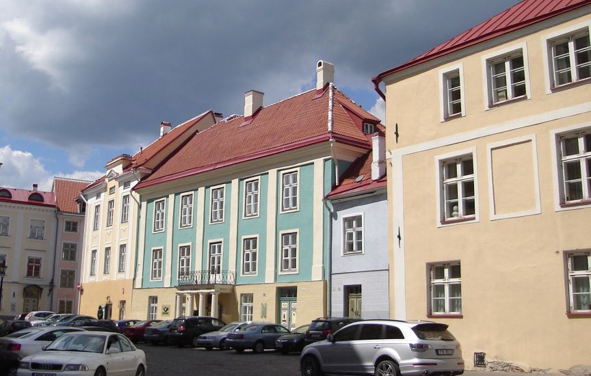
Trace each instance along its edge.
<path fill-rule="evenodd" d="M 527 95 L 523 50 L 487 60 L 488 102 L 496 105 Z"/>

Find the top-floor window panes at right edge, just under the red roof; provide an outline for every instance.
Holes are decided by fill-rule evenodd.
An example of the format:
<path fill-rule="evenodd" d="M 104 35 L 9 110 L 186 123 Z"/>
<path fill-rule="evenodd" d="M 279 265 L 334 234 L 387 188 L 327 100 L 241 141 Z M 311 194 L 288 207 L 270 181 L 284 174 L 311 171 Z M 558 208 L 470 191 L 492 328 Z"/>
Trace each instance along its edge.
<path fill-rule="evenodd" d="M 548 41 L 553 88 L 591 77 L 589 29 Z"/>

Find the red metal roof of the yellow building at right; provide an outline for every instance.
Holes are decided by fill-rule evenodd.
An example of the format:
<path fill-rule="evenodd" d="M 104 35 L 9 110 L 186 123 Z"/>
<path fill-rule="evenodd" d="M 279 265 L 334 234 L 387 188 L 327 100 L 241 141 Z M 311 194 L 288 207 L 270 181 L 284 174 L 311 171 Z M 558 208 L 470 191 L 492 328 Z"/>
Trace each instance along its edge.
<path fill-rule="evenodd" d="M 451 38 L 447 42 L 439 44 L 434 49 L 415 57 L 410 62 L 380 73 L 372 81 L 379 82 L 384 77 L 400 70 L 464 49 L 467 46 L 502 36 L 511 31 L 522 29 L 523 27 L 533 25 L 534 23 L 547 20 L 558 14 L 569 12 L 570 10 L 581 8 L 588 4 L 591 4 L 591 0 L 523 0 L 483 23 Z"/>

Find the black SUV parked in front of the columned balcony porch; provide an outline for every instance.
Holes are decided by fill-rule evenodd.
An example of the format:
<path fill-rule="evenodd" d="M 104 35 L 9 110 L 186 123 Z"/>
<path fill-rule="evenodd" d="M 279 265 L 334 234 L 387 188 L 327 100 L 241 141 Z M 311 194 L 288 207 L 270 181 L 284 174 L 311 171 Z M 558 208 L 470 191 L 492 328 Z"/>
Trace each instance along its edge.
<path fill-rule="evenodd" d="M 197 347 L 197 341 L 201 334 L 215 332 L 226 325 L 224 321 L 209 316 L 179 317 L 170 324 L 170 343 L 183 347 L 191 345 Z"/>

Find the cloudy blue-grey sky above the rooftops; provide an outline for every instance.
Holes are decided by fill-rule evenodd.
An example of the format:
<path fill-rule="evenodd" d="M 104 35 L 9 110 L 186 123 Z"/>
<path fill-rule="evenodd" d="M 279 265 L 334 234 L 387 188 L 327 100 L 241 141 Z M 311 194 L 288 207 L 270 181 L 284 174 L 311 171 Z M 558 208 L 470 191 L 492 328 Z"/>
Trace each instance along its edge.
<path fill-rule="evenodd" d="M 315 88 L 316 62 L 384 120 L 371 77 L 517 0 L 0 0 L 0 186 L 94 180 L 209 109 Z"/>

